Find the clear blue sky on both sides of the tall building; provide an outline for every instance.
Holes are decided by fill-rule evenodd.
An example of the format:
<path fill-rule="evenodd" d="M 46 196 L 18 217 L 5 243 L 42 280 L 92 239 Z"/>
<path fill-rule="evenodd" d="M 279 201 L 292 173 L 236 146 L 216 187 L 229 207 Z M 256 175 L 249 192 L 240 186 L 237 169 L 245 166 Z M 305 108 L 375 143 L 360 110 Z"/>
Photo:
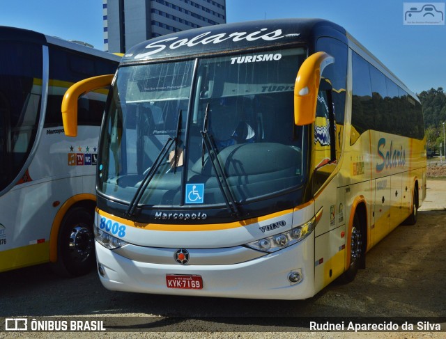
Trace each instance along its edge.
<path fill-rule="evenodd" d="M 415 1 L 226 0 L 226 22 L 328 19 L 344 26 L 413 92 L 446 88 L 446 26 L 403 25 L 404 2 Z M 0 0 L 0 25 L 103 49 L 102 0 Z"/>

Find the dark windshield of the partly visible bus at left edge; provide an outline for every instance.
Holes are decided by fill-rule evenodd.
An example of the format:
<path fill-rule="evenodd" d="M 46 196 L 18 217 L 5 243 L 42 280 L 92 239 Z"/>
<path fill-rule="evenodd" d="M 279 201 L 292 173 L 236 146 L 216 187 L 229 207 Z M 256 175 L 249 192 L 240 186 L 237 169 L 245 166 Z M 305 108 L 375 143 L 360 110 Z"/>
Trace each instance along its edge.
<path fill-rule="evenodd" d="M 42 47 L 0 41 L 0 191 L 22 170 L 36 138 Z"/>

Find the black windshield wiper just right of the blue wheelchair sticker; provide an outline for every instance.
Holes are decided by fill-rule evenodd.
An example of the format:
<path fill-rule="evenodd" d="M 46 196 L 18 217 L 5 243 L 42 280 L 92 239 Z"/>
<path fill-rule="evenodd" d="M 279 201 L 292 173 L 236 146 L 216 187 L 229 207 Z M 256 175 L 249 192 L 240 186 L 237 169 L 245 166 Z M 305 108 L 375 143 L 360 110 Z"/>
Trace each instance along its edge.
<path fill-rule="evenodd" d="M 217 175 L 217 183 L 218 187 L 220 187 L 220 191 L 222 191 L 224 203 L 226 203 L 228 210 L 233 216 L 239 216 L 240 212 L 238 211 L 236 200 L 234 199 L 231 189 L 229 188 L 228 180 L 224 175 L 222 164 L 220 164 L 220 161 L 217 157 L 217 148 L 215 148 L 213 136 L 208 131 L 209 109 L 210 105 L 208 103 L 206 106 L 206 112 L 204 113 L 203 130 L 200 131 L 201 137 L 203 138 L 201 145 L 201 166 L 204 166 L 204 149 L 206 148 L 210 158 L 210 164 L 212 164 L 215 175 Z"/>

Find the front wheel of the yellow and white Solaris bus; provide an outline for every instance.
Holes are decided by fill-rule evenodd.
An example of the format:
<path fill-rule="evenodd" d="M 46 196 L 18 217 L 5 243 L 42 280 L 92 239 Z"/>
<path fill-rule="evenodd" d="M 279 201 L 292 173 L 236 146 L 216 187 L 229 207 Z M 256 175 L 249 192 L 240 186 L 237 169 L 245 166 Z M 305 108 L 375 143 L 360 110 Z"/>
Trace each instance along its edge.
<path fill-rule="evenodd" d="M 362 260 L 364 260 L 362 248 L 362 228 L 360 219 L 355 214 L 351 229 L 350 267 L 339 277 L 341 283 L 351 283 L 355 279 L 357 270 L 360 269 Z"/>

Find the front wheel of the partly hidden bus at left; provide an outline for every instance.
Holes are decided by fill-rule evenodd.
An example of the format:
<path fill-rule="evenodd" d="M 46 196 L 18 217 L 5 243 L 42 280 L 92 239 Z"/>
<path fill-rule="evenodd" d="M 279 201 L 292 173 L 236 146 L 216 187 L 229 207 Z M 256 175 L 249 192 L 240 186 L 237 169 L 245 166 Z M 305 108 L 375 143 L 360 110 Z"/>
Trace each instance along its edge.
<path fill-rule="evenodd" d="M 63 217 L 57 242 L 56 272 L 82 276 L 95 266 L 93 211 L 73 207 Z"/>

